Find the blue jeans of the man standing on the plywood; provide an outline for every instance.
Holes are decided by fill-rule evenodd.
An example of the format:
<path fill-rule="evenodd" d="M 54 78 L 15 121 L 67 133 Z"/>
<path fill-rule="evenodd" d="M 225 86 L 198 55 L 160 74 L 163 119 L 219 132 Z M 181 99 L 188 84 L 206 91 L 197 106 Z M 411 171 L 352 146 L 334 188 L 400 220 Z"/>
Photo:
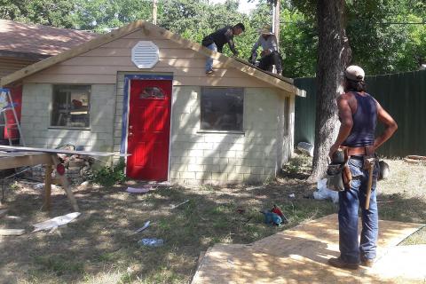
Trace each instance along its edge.
<path fill-rule="evenodd" d="M 339 192 L 339 248 L 341 259 L 350 264 L 359 264 L 361 259 L 376 256 L 379 217 L 376 190 L 379 164 L 375 162 L 371 186 L 370 208 L 366 209 L 368 170 L 363 170 L 362 159 L 351 158 L 351 189 Z M 358 209 L 361 208 L 362 231 L 358 241 Z"/>

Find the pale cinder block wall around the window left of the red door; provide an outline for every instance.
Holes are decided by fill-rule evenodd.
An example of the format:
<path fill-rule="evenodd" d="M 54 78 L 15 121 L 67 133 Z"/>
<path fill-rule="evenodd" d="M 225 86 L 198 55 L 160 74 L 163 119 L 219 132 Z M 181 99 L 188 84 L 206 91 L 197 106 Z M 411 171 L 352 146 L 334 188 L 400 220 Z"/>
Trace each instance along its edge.
<path fill-rule="evenodd" d="M 71 143 L 86 151 L 113 150 L 115 84 L 91 85 L 89 130 L 51 128 L 50 83 L 25 83 L 21 127 L 27 146 L 54 148 Z"/>

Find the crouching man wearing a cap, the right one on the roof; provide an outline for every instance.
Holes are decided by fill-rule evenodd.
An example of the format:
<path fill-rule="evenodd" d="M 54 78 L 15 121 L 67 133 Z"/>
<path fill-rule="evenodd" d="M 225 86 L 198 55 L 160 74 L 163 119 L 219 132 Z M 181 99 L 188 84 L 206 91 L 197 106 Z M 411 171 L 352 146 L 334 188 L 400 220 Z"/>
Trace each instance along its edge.
<path fill-rule="evenodd" d="M 259 30 L 260 36 L 251 50 L 251 57 L 248 60 L 254 64 L 257 58 L 257 48 L 262 46 L 263 51 L 260 53 L 259 68 L 272 72 L 272 66 L 275 65 L 277 74 L 282 73 L 281 58 L 278 52 L 277 37 L 271 32 L 271 26 L 265 25 Z"/>

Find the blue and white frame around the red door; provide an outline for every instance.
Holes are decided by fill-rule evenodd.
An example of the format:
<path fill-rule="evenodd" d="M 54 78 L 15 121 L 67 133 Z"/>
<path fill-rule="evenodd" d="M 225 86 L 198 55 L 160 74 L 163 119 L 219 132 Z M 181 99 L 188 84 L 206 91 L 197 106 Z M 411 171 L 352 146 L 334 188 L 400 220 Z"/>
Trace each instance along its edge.
<path fill-rule="evenodd" d="M 169 157 L 167 165 L 167 180 L 170 176 L 170 152 L 171 152 L 171 118 L 173 117 L 173 75 L 170 73 L 146 73 L 146 74 L 126 74 L 124 75 L 123 98 L 122 98 L 122 141 L 120 143 L 120 154 L 127 154 L 128 129 L 129 129 L 129 109 L 130 109 L 130 81 L 131 80 L 165 80 L 171 82 L 170 90 L 170 132 L 169 132 Z M 127 156 L 124 157 L 125 168 L 127 171 Z"/>

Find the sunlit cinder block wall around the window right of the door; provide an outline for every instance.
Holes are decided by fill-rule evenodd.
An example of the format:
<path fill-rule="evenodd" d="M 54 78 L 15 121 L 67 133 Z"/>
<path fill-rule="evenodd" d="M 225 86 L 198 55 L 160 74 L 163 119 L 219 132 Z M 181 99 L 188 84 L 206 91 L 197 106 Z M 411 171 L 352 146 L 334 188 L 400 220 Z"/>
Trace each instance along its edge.
<path fill-rule="evenodd" d="M 200 130 L 201 88 L 174 86 L 170 181 L 177 183 L 260 182 L 280 169 L 282 98 L 270 89 L 246 88 L 244 133 Z M 287 154 L 284 154 L 287 156 Z"/>

